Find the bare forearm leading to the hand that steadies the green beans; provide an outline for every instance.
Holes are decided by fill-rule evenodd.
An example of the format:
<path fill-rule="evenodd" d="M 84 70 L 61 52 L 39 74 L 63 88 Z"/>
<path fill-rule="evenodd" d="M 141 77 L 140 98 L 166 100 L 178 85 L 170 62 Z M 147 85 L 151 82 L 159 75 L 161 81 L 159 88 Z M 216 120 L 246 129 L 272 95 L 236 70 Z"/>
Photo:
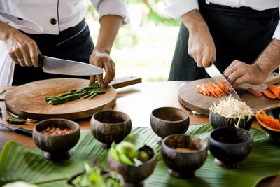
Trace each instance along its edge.
<path fill-rule="evenodd" d="M 116 39 L 123 18 L 118 15 L 105 15 L 100 19 L 100 30 L 95 50 L 110 53 L 113 42 Z"/>

